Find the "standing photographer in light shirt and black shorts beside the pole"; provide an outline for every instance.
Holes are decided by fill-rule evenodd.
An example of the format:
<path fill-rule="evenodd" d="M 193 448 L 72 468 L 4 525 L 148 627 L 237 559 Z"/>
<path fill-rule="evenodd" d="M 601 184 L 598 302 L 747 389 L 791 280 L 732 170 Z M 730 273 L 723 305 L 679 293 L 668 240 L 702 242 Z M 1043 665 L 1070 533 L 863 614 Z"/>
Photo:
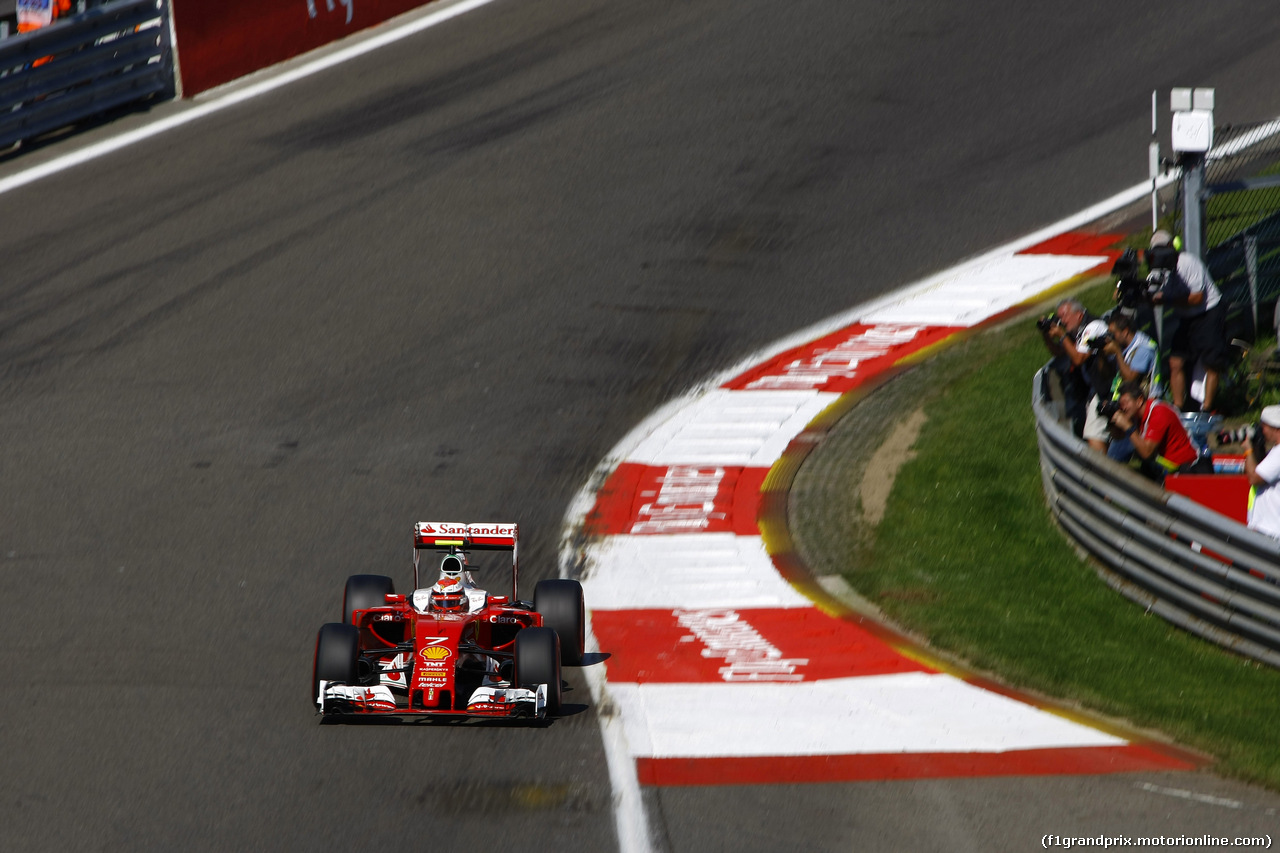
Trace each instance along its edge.
<path fill-rule="evenodd" d="M 1201 411 L 1213 411 L 1219 375 L 1230 365 L 1224 318 L 1226 306 L 1204 263 L 1180 252 L 1167 231 L 1151 236 L 1147 277 L 1153 305 L 1178 313 L 1178 329 L 1169 347 L 1169 392 L 1174 405 L 1187 410 L 1187 370 L 1204 365 L 1204 401 Z"/>

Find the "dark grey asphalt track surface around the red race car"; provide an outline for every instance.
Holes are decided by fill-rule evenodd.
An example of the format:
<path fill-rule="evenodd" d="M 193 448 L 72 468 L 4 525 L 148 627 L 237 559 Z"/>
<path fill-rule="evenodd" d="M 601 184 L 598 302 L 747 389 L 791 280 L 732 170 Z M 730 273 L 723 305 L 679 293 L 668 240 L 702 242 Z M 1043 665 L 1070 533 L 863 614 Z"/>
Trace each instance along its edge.
<path fill-rule="evenodd" d="M 518 521 L 553 575 L 649 411 L 1137 183 L 1152 88 L 1280 114 L 1280 8 L 1166 5 L 499 0 L 0 196 L 0 848 L 612 848 L 591 708 L 319 724 L 344 578 L 407 585 L 422 519 Z M 673 850 L 1274 825 L 1142 779 L 1247 808 L 1133 776 L 648 798 Z"/>

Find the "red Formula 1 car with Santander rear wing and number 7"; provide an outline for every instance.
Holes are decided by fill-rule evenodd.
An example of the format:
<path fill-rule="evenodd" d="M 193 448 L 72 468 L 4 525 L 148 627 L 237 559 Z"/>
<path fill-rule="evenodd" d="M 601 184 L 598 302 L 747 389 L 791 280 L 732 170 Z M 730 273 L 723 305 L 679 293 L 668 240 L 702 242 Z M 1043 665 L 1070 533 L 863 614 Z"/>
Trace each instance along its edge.
<path fill-rule="evenodd" d="M 342 622 L 316 637 L 311 697 L 323 715 L 536 717 L 561 708 L 561 665 L 581 666 L 582 587 L 540 580 L 518 598 L 515 524 L 424 521 L 413 535 L 413 593 L 390 578 L 347 579 Z M 440 556 L 422 584 L 422 552 Z M 475 552 L 511 552 L 511 596 L 476 587 Z"/>

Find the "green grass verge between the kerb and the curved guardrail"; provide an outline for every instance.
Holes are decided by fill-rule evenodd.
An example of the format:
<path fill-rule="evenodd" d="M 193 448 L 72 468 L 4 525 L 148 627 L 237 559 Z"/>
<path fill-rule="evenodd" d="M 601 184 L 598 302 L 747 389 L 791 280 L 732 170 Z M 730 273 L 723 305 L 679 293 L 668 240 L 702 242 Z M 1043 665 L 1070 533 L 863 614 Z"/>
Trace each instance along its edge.
<path fill-rule="evenodd" d="M 1085 302 L 1108 297 L 1103 286 Z M 1216 756 L 1220 772 L 1280 789 L 1280 671 L 1147 615 L 1053 524 L 1030 411 L 1046 360 L 1025 319 L 941 352 L 859 405 L 796 478 L 801 556 L 980 670 L 1164 731 Z M 858 498 L 867 460 L 920 406 L 916 455 L 870 529 Z"/>

